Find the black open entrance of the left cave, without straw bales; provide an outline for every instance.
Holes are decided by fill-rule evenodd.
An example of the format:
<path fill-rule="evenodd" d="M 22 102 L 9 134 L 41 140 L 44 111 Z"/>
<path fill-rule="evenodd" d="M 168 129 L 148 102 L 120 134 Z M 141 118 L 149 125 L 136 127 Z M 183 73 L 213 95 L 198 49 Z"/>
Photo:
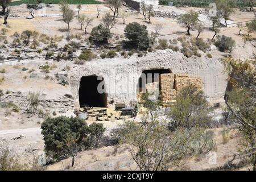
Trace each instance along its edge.
<path fill-rule="evenodd" d="M 79 104 L 80 107 L 107 107 L 106 93 L 98 92 L 98 85 L 103 81 L 101 86 L 105 90 L 105 82 L 97 80 L 97 76 L 83 76 L 81 77 L 79 86 Z M 102 83 L 101 83 L 102 84 Z"/>

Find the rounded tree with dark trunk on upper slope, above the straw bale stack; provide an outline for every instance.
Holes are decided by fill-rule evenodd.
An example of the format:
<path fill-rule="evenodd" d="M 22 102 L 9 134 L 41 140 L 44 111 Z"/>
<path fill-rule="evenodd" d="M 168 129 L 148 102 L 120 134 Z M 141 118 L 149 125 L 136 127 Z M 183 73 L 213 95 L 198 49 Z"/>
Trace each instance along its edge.
<path fill-rule="evenodd" d="M 184 27 L 187 28 L 187 34 L 190 35 L 190 30 L 192 30 L 197 21 L 198 21 L 198 13 L 191 10 L 189 13 L 182 15 L 178 20 L 180 24 L 183 24 Z"/>

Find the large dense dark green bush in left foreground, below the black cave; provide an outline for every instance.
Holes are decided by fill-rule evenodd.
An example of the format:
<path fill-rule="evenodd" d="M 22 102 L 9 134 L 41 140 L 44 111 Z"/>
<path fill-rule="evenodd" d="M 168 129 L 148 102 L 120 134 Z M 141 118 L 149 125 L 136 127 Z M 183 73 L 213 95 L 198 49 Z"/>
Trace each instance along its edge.
<path fill-rule="evenodd" d="M 80 118 L 47 118 L 41 125 L 44 136 L 44 150 L 52 159 L 65 159 L 70 154 L 71 146 L 77 145 L 77 152 L 88 147 L 88 125 Z M 71 145 L 71 146 L 70 146 Z M 75 151 L 74 151 L 75 152 Z"/>

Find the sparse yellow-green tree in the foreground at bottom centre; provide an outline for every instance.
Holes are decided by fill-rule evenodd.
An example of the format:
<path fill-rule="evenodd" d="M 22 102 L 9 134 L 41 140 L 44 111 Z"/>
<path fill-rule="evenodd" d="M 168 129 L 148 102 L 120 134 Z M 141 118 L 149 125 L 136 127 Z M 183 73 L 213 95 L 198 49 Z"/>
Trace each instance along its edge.
<path fill-rule="evenodd" d="M 129 146 L 142 171 L 167 171 L 178 166 L 183 157 L 180 146 L 184 146 L 184 140 L 172 134 L 164 122 L 125 122 L 120 132 L 121 142 Z"/>

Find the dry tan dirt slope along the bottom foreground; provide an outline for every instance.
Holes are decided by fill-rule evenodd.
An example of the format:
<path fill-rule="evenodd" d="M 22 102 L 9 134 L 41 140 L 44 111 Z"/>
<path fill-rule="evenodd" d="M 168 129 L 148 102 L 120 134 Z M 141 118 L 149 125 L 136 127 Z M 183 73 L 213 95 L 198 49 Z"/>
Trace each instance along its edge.
<path fill-rule="evenodd" d="M 221 128 L 213 129 L 214 141 L 216 148 L 216 162 L 211 163 L 211 154 L 202 154 L 199 156 L 188 157 L 181 162 L 180 167 L 175 167 L 175 170 L 213 170 L 214 168 L 224 166 L 224 164 L 232 159 L 234 154 L 237 154 L 238 143 L 240 136 L 236 131 L 230 131 L 228 143 L 223 143 L 220 134 Z M 72 159 L 68 158 L 59 163 L 48 166 L 48 170 L 138 170 L 134 160 L 131 158 L 129 147 L 120 146 L 102 147 L 97 150 L 90 150 L 81 152 L 76 160 L 75 166 L 71 168 Z M 238 162 L 238 161 L 237 161 Z M 240 168 L 240 170 L 247 170 L 248 166 Z"/>

